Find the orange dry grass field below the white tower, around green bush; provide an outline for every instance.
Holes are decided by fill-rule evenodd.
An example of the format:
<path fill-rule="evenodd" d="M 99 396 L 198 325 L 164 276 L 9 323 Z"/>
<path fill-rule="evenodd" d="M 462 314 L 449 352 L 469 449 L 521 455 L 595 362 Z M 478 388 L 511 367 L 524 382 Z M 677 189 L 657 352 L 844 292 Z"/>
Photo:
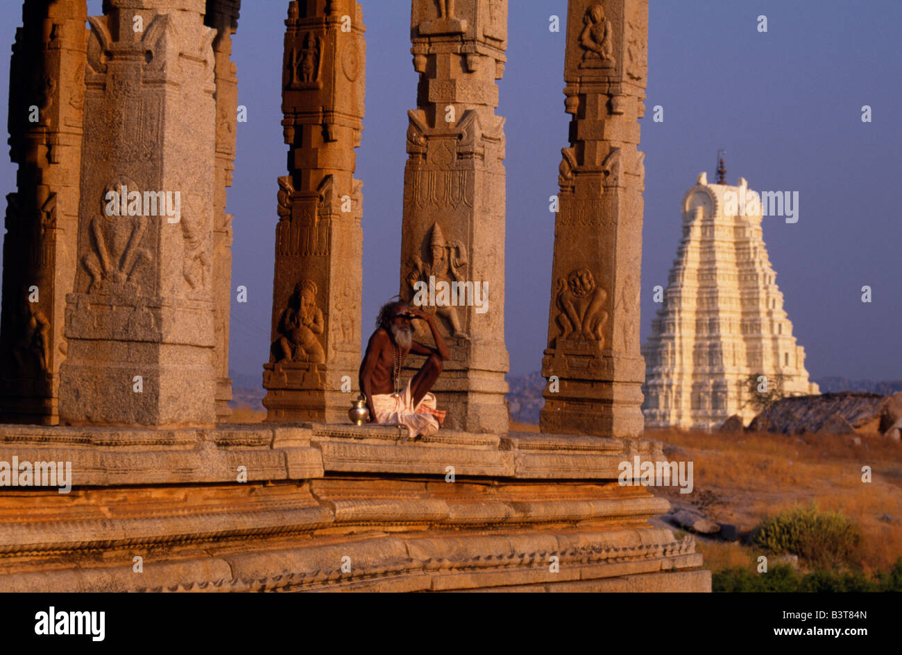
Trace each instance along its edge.
<path fill-rule="evenodd" d="M 669 459 L 694 464 L 695 488 L 655 493 L 675 505 L 694 505 L 718 523 L 743 532 L 792 505 L 816 503 L 840 511 L 861 527 L 862 569 L 888 569 L 902 557 L 902 443 L 879 436 L 787 436 L 769 433 L 648 431 Z M 862 481 L 862 468 L 871 481 Z M 719 570 L 750 564 L 759 553 L 735 543 L 700 542 L 706 566 Z"/>

